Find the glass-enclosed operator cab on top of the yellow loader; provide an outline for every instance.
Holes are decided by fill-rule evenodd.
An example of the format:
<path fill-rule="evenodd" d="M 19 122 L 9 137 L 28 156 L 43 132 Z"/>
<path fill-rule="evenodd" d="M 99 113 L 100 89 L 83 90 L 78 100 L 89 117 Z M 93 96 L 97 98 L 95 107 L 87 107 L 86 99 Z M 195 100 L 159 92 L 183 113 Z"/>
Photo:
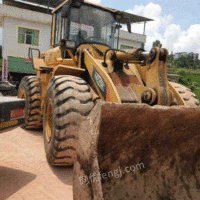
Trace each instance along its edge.
<path fill-rule="evenodd" d="M 113 47 L 115 24 L 109 11 L 85 3 L 74 7 L 68 1 L 56 12 L 55 46 L 65 39 L 75 41 L 76 47 L 85 43 Z"/>

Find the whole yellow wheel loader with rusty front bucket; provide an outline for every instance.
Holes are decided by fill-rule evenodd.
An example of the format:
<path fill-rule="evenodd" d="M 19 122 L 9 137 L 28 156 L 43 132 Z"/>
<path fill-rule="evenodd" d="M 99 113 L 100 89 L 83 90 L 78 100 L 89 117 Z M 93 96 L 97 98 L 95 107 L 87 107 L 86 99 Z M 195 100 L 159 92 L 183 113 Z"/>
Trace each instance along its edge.
<path fill-rule="evenodd" d="M 199 101 L 167 81 L 161 45 L 114 48 L 121 25 L 131 32 L 147 21 L 64 1 L 52 48 L 32 58 L 37 76 L 20 84 L 26 127 L 43 126 L 47 160 L 74 165 L 74 199 L 200 199 Z"/>

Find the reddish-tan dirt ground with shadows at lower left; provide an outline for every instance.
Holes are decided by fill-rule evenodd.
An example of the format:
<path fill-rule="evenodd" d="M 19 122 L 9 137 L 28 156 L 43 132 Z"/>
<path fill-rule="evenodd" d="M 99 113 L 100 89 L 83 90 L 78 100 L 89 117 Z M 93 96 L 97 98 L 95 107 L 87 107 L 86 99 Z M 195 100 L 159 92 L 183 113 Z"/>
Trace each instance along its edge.
<path fill-rule="evenodd" d="M 0 134 L 0 200 L 72 200 L 72 167 L 52 167 L 42 131 L 18 127 Z"/>

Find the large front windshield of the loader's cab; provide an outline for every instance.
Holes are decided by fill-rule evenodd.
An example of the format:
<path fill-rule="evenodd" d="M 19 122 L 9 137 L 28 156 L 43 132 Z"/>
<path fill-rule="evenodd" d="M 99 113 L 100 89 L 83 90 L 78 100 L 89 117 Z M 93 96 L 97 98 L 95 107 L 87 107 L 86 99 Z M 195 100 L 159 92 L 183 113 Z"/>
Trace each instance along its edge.
<path fill-rule="evenodd" d="M 89 5 L 72 8 L 68 39 L 81 43 L 114 45 L 115 19 L 108 12 Z"/>

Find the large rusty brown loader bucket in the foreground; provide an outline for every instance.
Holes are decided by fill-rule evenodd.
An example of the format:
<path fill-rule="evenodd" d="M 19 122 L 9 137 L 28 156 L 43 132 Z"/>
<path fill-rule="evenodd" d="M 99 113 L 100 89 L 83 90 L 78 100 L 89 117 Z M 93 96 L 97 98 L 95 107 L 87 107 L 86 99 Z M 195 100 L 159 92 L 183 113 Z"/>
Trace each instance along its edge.
<path fill-rule="evenodd" d="M 75 200 L 200 199 L 200 108 L 98 102 L 81 123 Z"/>

